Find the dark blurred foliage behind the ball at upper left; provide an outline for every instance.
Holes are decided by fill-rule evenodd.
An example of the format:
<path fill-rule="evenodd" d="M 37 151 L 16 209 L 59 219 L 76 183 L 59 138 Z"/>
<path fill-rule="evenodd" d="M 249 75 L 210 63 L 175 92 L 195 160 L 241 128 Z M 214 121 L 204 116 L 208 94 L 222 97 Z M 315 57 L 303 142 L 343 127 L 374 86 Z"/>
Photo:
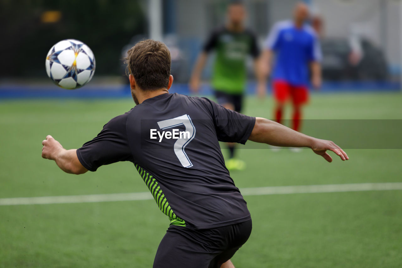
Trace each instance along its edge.
<path fill-rule="evenodd" d="M 133 0 L 1 0 L 0 76 L 43 76 L 51 46 L 63 39 L 87 43 L 96 73 L 119 74 L 121 48 L 147 32 L 144 4 Z"/>

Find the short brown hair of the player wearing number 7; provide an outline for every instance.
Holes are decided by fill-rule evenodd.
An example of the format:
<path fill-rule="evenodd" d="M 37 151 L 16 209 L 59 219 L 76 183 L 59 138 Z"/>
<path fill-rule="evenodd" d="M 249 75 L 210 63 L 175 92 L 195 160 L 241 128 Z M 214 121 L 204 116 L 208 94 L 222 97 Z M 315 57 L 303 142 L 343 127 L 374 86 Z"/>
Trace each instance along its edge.
<path fill-rule="evenodd" d="M 139 41 L 127 52 L 125 63 L 138 87 L 144 91 L 167 88 L 170 76 L 170 51 L 152 39 Z"/>

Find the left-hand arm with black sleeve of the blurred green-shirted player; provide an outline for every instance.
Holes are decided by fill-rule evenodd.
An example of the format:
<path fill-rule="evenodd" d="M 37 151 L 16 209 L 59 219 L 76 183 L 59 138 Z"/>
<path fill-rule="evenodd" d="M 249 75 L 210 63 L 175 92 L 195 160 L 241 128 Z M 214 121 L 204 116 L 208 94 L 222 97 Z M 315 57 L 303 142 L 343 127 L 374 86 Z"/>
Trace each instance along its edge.
<path fill-rule="evenodd" d="M 218 31 L 214 31 L 211 34 L 211 36 L 205 42 L 203 50 L 199 54 L 197 61 L 195 62 L 195 66 L 189 82 L 190 90 L 194 93 L 198 93 L 200 87 L 201 74 L 202 71 L 204 70 L 205 63 L 207 62 L 208 53 L 215 48 L 217 44 L 218 35 L 219 35 Z"/>

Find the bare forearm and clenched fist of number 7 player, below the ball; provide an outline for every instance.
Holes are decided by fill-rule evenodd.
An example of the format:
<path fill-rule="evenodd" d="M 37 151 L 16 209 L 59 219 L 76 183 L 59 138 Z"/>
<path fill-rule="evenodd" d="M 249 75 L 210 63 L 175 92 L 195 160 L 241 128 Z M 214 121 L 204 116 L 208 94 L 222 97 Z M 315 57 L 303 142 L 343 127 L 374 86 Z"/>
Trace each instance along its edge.
<path fill-rule="evenodd" d="M 78 160 L 77 149 L 66 150 L 52 136 L 47 135 L 42 141 L 42 157 L 54 160 L 62 171 L 70 174 L 83 174 L 88 171 Z"/>

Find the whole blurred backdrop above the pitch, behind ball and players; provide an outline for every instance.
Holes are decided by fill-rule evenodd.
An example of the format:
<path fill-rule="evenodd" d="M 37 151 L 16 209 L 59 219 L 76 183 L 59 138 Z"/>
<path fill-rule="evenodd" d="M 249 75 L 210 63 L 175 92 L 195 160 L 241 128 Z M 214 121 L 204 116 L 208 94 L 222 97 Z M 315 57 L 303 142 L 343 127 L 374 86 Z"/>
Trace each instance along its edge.
<path fill-rule="evenodd" d="M 291 17 L 296 0 L 244 0 L 247 25 L 260 45 L 271 26 Z M 401 73 L 400 0 L 305 0 L 311 23 L 318 24 L 329 82 L 399 82 Z M 225 22 L 228 1 L 215 0 L 1 0 L 0 78 L 46 79 L 50 47 L 78 39 L 96 57 L 94 80 L 124 74 L 121 58 L 135 42 L 165 41 L 172 52 L 172 74 L 187 83 L 200 47 Z M 210 59 L 211 62 L 211 59 Z M 210 64 L 209 64 L 210 66 Z M 250 64 L 251 66 L 251 64 Z M 250 68 L 251 69 L 251 68 Z M 204 78 L 208 78 L 206 68 Z M 250 72 L 250 78 L 252 78 Z M 119 79 L 117 79 L 119 77 Z"/>

